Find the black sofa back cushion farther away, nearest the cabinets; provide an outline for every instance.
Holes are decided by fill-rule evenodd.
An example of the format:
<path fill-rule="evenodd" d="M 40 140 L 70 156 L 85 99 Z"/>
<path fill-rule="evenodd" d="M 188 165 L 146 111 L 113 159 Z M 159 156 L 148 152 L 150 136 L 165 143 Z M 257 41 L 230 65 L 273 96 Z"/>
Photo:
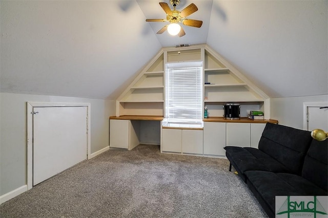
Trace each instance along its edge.
<path fill-rule="evenodd" d="M 290 173 L 301 175 L 311 141 L 309 131 L 267 123 L 258 148 L 283 164 Z"/>

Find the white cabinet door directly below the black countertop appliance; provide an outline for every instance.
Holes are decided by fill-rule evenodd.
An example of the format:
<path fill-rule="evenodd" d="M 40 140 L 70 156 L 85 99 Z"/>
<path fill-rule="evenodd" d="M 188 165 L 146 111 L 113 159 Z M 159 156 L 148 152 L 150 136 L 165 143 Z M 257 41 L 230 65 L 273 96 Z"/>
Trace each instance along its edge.
<path fill-rule="evenodd" d="M 227 123 L 227 145 L 250 147 L 251 124 L 250 123 Z"/>

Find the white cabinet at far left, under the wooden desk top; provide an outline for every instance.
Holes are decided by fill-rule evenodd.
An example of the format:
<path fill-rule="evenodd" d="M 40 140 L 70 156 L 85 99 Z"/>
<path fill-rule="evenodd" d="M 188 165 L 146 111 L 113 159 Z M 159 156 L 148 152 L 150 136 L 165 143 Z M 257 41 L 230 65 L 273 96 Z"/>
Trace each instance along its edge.
<path fill-rule="evenodd" d="M 133 149 L 139 142 L 138 120 L 110 120 L 109 145 L 115 148 Z"/>

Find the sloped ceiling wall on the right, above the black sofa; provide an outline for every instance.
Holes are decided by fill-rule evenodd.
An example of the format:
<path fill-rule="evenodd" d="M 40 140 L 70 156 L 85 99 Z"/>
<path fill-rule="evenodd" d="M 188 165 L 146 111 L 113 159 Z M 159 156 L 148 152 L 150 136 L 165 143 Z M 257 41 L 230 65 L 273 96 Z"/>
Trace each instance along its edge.
<path fill-rule="evenodd" d="M 213 2 L 207 43 L 270 97 L 328 93 L 328 1 Z"/>

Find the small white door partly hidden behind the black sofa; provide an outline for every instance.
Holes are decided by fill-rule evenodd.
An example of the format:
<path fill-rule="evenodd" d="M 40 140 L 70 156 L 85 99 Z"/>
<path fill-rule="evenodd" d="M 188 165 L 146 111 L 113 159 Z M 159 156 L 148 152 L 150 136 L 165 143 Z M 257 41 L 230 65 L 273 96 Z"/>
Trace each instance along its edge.
<path fill-rule="evenodd" d="M 321 107 L 308 107 L 308 130 L 320 128 L 328 131 L 328 105 Z"/>

